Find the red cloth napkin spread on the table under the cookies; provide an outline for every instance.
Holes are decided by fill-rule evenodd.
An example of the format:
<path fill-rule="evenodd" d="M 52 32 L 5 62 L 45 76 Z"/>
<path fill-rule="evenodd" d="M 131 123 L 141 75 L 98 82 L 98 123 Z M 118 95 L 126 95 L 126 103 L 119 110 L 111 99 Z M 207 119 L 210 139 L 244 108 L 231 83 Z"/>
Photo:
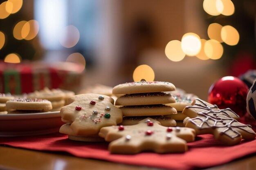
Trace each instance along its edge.
<path fill-rule="evenodd" d="M 72 141 L 67 139 L 67 135 L 61 133 L 29 137 L 2 137 L 0 144 L 32 150 L 65 151 L 76 157 L 175 170 L 217 166 L 256 152 L 256 140 L 242 141 L 236 146 L 223 146 L 212 135 L 199 135 L 195 142 L 188 144 L 189 150 L 181 154 L 152 152 L 136 155 L 110 154 L 107 142 Z"/>

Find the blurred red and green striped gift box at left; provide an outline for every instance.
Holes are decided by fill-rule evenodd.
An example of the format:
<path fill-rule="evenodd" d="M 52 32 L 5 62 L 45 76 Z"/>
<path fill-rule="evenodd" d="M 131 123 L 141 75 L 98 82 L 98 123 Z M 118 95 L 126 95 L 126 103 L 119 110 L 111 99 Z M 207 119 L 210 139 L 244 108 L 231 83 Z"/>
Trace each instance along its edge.
<path fill-rule="evenodd" d="M 0 61 L 0 93 L 30 93 L 44 87 L 77 91 L 82 77 L 81 65 L 71 62 Z"/>

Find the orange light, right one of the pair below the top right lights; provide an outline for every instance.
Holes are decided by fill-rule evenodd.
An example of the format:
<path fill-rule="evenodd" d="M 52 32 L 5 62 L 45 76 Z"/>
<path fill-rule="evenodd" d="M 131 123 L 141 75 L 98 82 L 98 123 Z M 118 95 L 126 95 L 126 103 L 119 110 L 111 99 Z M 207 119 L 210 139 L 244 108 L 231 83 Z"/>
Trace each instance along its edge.
<path fill-rule="evenodd" d="M 226 25 L 221 29 L 221 38 L 228 45 L 236 45 L 239 42 L 239 33 L 233 26 Z"/>

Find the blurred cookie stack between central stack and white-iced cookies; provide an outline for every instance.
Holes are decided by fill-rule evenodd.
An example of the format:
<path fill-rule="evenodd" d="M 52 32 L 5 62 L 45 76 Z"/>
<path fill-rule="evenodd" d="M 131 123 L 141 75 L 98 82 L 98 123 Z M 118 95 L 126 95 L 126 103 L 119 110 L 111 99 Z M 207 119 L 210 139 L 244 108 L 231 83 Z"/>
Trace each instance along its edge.
<path fill-rule="evenodd" d="M 177 126 L 184 126 L 183 121 L 187 117 L 186 115 L 182 114 L 182 111 L 186 106 L 190 106 L 194 99 L 198 98 L 196 95 L 191 93 L 186 93 L 182 89 L 176 89 L 176 91 L 167 92 L 171 94 L 176 102 L 171 104 L 166 104 L 167 106 L 174 107 L 177 110 L 177 114 L 168 115 L 174 119 L 177 123 Z"/>

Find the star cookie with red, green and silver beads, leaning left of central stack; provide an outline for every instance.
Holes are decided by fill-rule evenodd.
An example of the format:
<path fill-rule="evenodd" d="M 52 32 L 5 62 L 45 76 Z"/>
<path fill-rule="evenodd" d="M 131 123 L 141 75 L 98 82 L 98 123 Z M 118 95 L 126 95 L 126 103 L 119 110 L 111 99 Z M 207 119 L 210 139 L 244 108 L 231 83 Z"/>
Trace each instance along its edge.
<path fill-rule="evenodd" d="M 122 122 L 122 111 L 115 107 L 114 100 L 106 95 L 82 94 L 69 98 L 69 105 L 61 108 L 61 117 L 71 122 L 75 136 L 95 136 L 104 126 Z"/>

